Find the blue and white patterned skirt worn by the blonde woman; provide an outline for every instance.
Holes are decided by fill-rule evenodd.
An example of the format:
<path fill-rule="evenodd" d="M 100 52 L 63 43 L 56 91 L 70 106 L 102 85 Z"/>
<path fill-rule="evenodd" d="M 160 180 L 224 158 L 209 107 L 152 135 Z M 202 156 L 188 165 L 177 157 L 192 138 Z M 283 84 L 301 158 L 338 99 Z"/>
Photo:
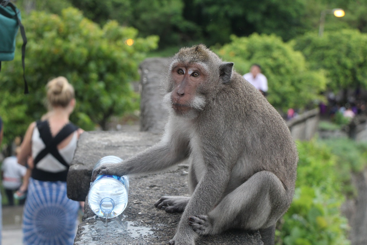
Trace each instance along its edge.
<path fill-rule="evenodd" d="M 66 182 L 29 179 L 23 211 L 23 244 L 72 245 L 79 202 L 66 196 Z"/>

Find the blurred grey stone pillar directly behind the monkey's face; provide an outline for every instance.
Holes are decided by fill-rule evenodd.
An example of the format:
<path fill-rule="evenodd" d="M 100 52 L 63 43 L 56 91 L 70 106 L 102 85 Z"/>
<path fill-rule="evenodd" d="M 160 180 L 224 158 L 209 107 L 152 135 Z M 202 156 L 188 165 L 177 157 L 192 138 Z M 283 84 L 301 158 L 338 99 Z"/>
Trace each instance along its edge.
<path fill-rule="evenodd" d="M 168 60 L 168 58 L 147 58 L 140 64 L 141 131 L 160 133 L 167 121 L 168 112 L 161 102 L 163 93 L 160 82 Z"/>

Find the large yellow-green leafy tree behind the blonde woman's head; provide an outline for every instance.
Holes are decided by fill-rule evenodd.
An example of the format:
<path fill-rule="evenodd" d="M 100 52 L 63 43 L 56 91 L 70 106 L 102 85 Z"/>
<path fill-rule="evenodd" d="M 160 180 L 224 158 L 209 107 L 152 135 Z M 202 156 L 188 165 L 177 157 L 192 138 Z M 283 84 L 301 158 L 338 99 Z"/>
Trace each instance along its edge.
<path fill-rule="evenodd" d="M 139 77 L 138 65 L 146 52 L 157 47 L 157 36 L 137 38 L 136 29 L 121 27 L 116 21 L 100 28 L 75 8 L 63 10 L 60 16 L 33 12 L 23 22 L 28 38 L 25 63 L 30 94 L 22 95 L 21 57 L 17 52 L 14 61 L 3 63 L 0 74 L 2 100 L 5 91 L 10 93 L 6 103 L 0 104 L 0 111 L 19 108 L 11 109 L 14 115 L 9 115 L 7 129 L 20 128 L 23 135 L 28 123 L 46 112 L 45 85 L 57 76 L 66 77 L 74 86 L 77 106 L 71 120 L 86 130 L 94 129 L 95 124 L 106 129 L 111 116 L 138 110 L 139 96 L 131 83 Z M 20 50 L 20 35 L 18 38 Z M 135 40 L 132 46 L 125 44 L 130 38 Z M 13 120 L 23 112 L 28 120 Z"/>

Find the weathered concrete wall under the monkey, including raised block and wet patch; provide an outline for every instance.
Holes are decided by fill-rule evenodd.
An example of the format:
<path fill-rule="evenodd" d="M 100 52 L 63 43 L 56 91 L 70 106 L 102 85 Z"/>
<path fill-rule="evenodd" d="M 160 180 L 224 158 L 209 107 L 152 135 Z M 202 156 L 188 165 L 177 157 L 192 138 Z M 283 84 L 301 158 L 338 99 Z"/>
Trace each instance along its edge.
<path fill-rule="evenodd" d="M 103 156 L 122 159 L 153 145 L 158 134 L 149 132 L 85 132 L 78 141 L 68 174 L 68 196 L 84 200 L 90 186 L 94 164 Z M 79 224 L 75 245 L 99 244 L 167 244 L 175 234 L 179 213 L 166 213 L 154 207 L 163 195 L 187 195 L 188 167 L 175 166 L 166 171 L 130 177 L 129 202 L 120 216 L 105 220 L 90 210 L 87 202 L 82 223 Z M 258 232 L 228 231 L 215 236 L 201 237 L 199 244 L 263 244 Z"/>

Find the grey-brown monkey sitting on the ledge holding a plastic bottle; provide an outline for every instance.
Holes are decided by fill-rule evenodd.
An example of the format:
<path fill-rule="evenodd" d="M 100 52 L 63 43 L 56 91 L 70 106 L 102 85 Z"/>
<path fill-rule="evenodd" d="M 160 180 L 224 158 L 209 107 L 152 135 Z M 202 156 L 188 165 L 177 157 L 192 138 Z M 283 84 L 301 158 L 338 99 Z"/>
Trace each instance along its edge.
<path fill-rule="evenodd" d="M 138 174 L 189 162 L 190 196 L 155 206 L 182 212 L 170 245 L 199 235 L 259 230 L 274 244 L 275 224 L 292 201 L 298 152 L 285 121 L 266 98 L 205 45 L 183 47 L 162 81 L 169 117 L 156 145 L 97 174 Z"/>

